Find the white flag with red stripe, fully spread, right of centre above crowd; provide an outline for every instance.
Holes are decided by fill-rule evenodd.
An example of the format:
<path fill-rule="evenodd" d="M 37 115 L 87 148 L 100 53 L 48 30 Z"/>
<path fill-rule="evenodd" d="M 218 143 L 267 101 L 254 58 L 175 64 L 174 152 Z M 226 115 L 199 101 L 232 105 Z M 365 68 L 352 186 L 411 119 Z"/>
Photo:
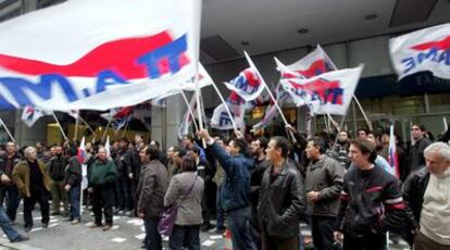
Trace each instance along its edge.
<path fill-rule="evenodd" d="M 298 107 L 309 104 L 314 113 L 343 115 L 353 97 L 363 66 L 328 72 L 309 79 L 282 79 Z"/>

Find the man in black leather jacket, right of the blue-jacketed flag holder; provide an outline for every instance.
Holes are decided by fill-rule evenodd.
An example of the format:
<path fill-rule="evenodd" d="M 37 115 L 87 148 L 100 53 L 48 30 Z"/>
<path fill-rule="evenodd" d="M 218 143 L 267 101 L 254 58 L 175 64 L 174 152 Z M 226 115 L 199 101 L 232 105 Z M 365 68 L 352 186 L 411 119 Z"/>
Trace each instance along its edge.
<path fill-rule="evenodd" d="M 299 222 L 305 211 L 303 184 L 300 173 L 288 160 L 288 152 L 286 138 L 271 138 L 266 149 L 271 165 L 262 178 L 258 207 L 263 250 L 297 250 L 300 247 Z"/>

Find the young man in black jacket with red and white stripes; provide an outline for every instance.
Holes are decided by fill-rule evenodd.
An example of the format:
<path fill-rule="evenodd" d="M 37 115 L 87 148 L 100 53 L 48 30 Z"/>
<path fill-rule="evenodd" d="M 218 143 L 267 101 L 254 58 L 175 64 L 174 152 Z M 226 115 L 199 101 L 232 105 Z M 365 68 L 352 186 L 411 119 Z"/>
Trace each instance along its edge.
<path fill-rule="evenodd" d="M 374 164 L 375 143 L 355 139 L 350 145 L 351 166 L 343 178 L 335 239 L 343 249 L 386 248 L 387 229 L 404 229 L 407 214 L 400 183 Z"/>

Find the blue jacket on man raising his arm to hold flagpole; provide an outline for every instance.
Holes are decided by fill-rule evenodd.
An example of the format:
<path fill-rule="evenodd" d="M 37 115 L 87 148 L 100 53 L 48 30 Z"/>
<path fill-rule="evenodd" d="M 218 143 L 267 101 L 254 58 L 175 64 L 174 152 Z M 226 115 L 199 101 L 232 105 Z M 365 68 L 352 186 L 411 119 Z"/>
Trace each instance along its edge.
<path fill-rule="evenodd" d="M 250 205 L 250 170 L 253 159 L 229 155 L 224 148 L 213 143 L 208 147 L 226 173 L 221 189 L 222 207 L 232 211 Z"/>

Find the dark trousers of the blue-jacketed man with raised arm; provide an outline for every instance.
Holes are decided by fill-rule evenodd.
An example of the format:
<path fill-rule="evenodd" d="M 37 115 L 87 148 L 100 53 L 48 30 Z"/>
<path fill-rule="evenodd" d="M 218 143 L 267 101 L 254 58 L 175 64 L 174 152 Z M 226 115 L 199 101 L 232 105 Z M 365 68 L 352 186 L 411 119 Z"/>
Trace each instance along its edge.
<path fill-rule="evenodd" d="M 234 250 L 257 249 L 250 235 L 250 207 L 226 212 L 226 223 L 232 232 Z"/>

